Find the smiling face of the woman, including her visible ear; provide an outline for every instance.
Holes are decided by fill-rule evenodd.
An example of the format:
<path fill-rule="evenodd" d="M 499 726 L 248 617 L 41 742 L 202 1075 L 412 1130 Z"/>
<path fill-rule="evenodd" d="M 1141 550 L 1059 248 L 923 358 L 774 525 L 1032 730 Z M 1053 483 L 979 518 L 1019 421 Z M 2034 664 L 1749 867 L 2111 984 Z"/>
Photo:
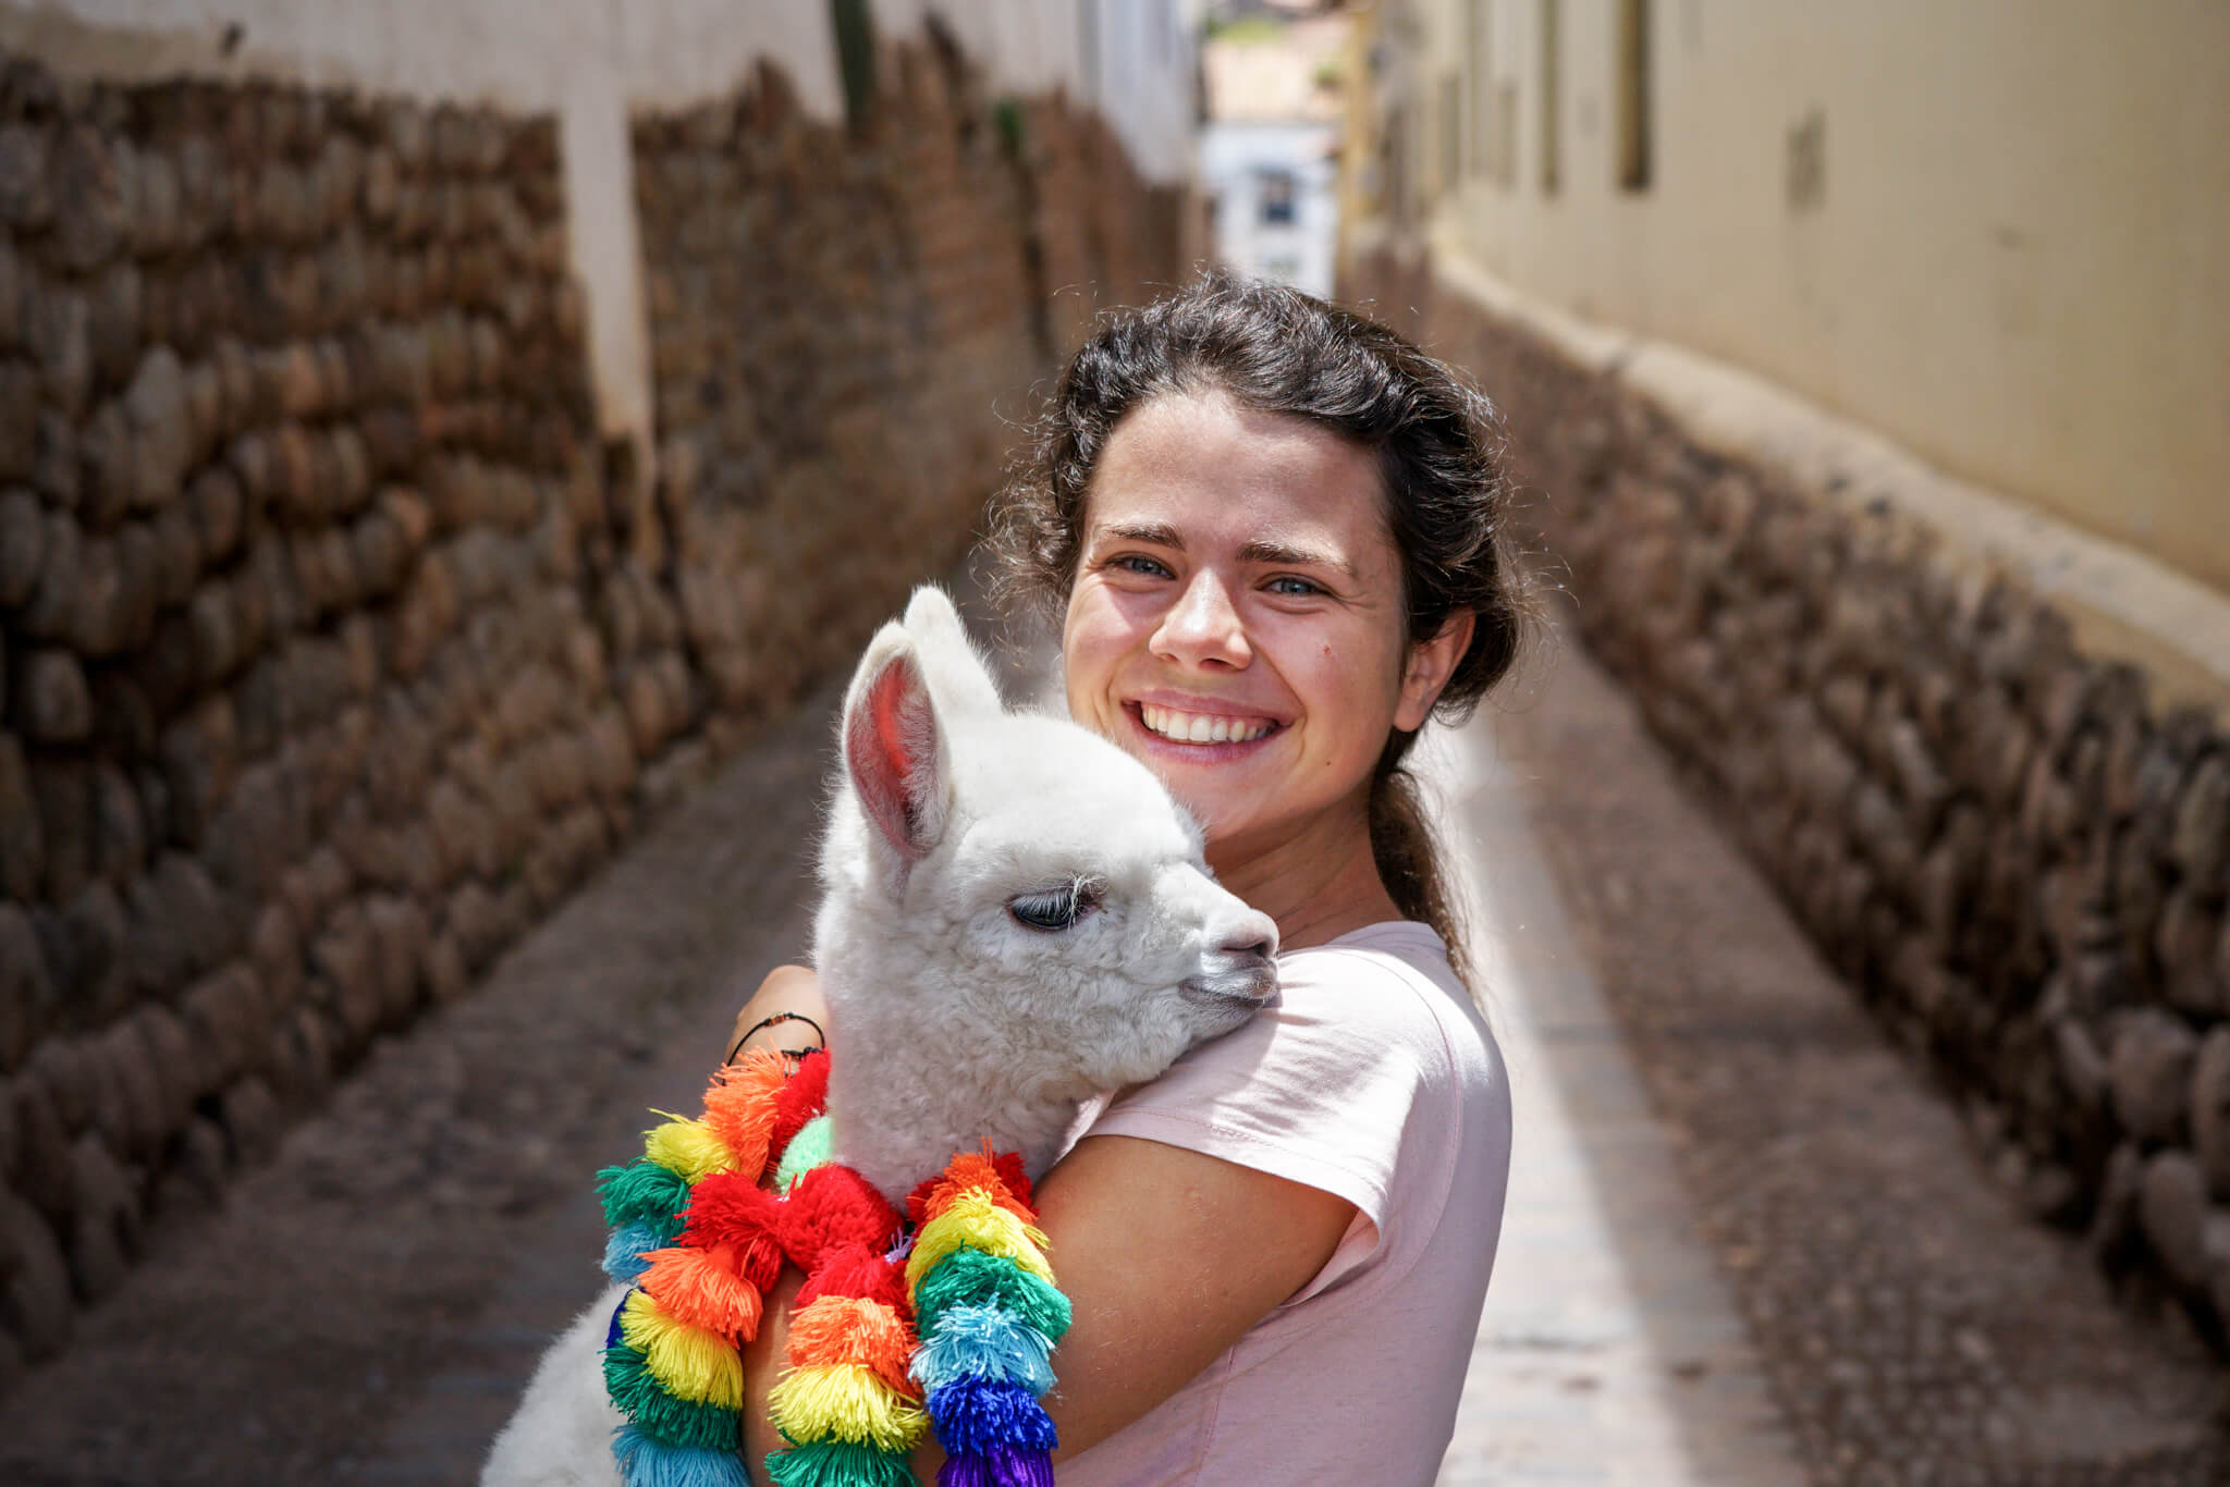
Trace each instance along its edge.
<path fill-rule="evenodd" d="M 1456 655 L 1407 644 L 1369 450 L 1224 395 L 1153 399 L 1108 437 L 1068 709 L 1200 816 L 1220 865 L 1365 820 L 1387 731 L 1425 722 Z"/>

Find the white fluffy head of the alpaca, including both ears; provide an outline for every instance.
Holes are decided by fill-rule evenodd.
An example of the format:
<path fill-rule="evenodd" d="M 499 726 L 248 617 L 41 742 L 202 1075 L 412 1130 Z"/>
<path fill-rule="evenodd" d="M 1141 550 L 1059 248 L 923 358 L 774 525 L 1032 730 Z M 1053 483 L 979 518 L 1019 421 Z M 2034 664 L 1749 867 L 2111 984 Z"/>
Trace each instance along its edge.
<path fill-rule="evenodd" d="M 1010 1090 L 1082 1099 L 1276 992 L 1278 927 L 1193 820 L 1115 745 L 1008 713 L 943 593 L 867 647 L 843 762 L 816 954 L 845 1048 L 961 1041 Z"/>

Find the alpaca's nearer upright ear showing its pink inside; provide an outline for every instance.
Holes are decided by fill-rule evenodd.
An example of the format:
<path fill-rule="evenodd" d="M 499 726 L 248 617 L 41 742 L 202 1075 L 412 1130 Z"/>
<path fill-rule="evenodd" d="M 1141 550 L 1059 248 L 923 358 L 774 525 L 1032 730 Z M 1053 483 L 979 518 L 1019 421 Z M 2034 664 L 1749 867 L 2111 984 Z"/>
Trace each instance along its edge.
<path fill-rule="evenodd" d="M 892 631 L 885 626 L 876 640 Z M 872 644 L 852 682 L 843 762 L 867 820 L 901 861 L 914 863 L 943 836 L 950 780 L 921 658 L 903 633 L 894 640 Z"/>

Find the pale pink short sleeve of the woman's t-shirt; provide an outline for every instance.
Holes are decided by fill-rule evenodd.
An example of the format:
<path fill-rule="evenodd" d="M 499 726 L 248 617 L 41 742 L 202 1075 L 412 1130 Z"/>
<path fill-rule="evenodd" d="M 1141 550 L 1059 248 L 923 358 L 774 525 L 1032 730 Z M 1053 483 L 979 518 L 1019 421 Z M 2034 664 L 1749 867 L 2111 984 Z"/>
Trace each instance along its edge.
<path fill-rule="evenodd" d="M 1392 1240 L 1403 1133 L 1452 1099 L 1432 994 L 1383 952 L 1287 956 L 1276 1008 L 1122 1092 L 1084 1135 L 1182 1146 L 1351 1202 L 1358 1222 L 1316 1293 Z"/>

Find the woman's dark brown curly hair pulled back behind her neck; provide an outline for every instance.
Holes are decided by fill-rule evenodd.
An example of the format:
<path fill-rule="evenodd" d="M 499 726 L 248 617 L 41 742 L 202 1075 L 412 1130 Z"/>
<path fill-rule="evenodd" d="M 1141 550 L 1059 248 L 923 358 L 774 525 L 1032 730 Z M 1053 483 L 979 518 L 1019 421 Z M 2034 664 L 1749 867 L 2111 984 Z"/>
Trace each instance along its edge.
<path fill-rule="evenodd" d="M 1077 350 L 1037 439 L 992 499 L 986 551 L 1010 611 L 1066 606 L 1084 544 L 1086 495 L 1108 437 L 1142 404 L 1222 392 L 1376 453 L 1400 555 L 1412 642 L 1461 611 L 1472 642 L 1434 704 L 1461 722 L 1510 671 L 1530 631 L 1525 573 L 1510 542 L 1512 486 L 1494 406 L 1443 361 L 1313 294 L 1211 272 L 1119 312 Z M 1394 731 L 1371 774 L 1371 856 L 1403 914 L 1429 923 L 1458 970 L 1463 943 L 1441 856 Z"/>

